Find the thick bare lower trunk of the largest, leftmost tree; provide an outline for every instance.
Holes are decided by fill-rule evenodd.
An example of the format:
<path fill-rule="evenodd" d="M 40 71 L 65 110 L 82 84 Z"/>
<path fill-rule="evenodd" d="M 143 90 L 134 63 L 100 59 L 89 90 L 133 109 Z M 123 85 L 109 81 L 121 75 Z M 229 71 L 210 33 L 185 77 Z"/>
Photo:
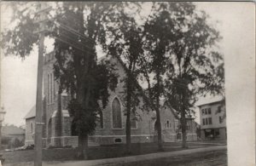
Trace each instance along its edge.
<path fill-rule="evenodd" d="M 88 159 L 88 135 L 79 135 L 78 158 Z"/>

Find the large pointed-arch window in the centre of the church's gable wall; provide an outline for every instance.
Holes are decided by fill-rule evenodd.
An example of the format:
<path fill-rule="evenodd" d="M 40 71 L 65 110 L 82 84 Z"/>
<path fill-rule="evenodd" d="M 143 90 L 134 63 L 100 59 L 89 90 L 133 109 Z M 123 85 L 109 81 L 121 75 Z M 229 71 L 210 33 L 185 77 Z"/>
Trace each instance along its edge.
<path fill-rule="evenodd" d="M 114 98 L 112 102 L 112 120 L 113 129 L 122 128 L 121 105 L 117 98 Z"/>

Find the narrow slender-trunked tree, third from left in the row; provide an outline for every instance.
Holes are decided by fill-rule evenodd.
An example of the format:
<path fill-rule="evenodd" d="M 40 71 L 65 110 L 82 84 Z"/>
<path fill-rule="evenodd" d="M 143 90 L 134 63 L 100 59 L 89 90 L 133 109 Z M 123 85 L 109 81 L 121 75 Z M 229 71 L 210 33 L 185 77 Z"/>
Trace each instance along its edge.
<path fill-rule="evenodd" d="M 154 3 L 151 14 L 144 25 L 143 48 L 146 50 L 142 63 L 143 77 L 148 84 L 146 94 L 150 100 L 151 107 L 156 112 L 156 127 L 158 135 L 158 148 L 163 150 L 161 121 L 160 121 L 160 100 L 164 97 L 164 77 L 168 67 L 166 47 L 172 37 L 167 30 L 172 29 L 172 25 L 166 24 L 166 13 L 160 12 L 162 3 Z"/>

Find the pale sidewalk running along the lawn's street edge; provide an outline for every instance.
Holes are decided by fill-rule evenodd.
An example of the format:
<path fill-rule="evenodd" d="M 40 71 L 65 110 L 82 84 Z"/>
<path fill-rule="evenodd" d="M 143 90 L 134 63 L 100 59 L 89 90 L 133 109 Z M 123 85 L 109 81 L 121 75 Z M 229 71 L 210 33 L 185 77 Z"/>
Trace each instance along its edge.
<path fill-rule="evenodd" d="M 97 159 L 97 160 L 84 160 L 84 161 L 66 161 L 66 162 L 44 162 L 44 166 L 98 166 L 98 165 L 111 165 L 114 163 L 115 165 L 122 165 L 124 163 L 133 163 L 133 162 L 140 162 L 149 159 L 159 159 L 165 157 L 174 157 L 174 156 L 182 156 L 188 155 L 190 153 L 196 152 L 211 152 L 211 151 L 218 151 L 218 150 L 225 150 L 226 146 L 211 146 L 211 147 L 203 147 L 203 148 L 196 148 L 196 149 L 188 149 L 176 152 L 157 152 L 157 153 L 150 153 L 144 155 L 137 155 L 131 157 L 116 157 L 116 158 L 106 158 L 106 159 Z M 6 164 L 6 166 L 10 166 L 14 164 Z M 15 166 L 23 166 L 23 165 L 33 165 L 33 163 L 19 163 L 15 164 Z"/>

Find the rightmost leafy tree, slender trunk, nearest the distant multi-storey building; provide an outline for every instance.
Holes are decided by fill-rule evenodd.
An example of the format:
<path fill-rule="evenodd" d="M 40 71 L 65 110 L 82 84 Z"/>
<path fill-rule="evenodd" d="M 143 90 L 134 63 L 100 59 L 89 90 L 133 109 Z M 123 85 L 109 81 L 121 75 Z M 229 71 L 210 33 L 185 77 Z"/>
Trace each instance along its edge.
<path fill-rule="evenodd" d="M 183 147 L 186 144 L 186 116 L 192 112 L 198 94 L 223 91 L 224 70 L 222 55 L 216 51 L 221 38 L 207 24 L 207 14 L 197 11 L 193 3 L 162 3 L 158 25 L 166 27 L 168 70 L 165 78 L 165 97 L 180 117 Z M 162 49 L 164 50 L 164 49 Z"/>

